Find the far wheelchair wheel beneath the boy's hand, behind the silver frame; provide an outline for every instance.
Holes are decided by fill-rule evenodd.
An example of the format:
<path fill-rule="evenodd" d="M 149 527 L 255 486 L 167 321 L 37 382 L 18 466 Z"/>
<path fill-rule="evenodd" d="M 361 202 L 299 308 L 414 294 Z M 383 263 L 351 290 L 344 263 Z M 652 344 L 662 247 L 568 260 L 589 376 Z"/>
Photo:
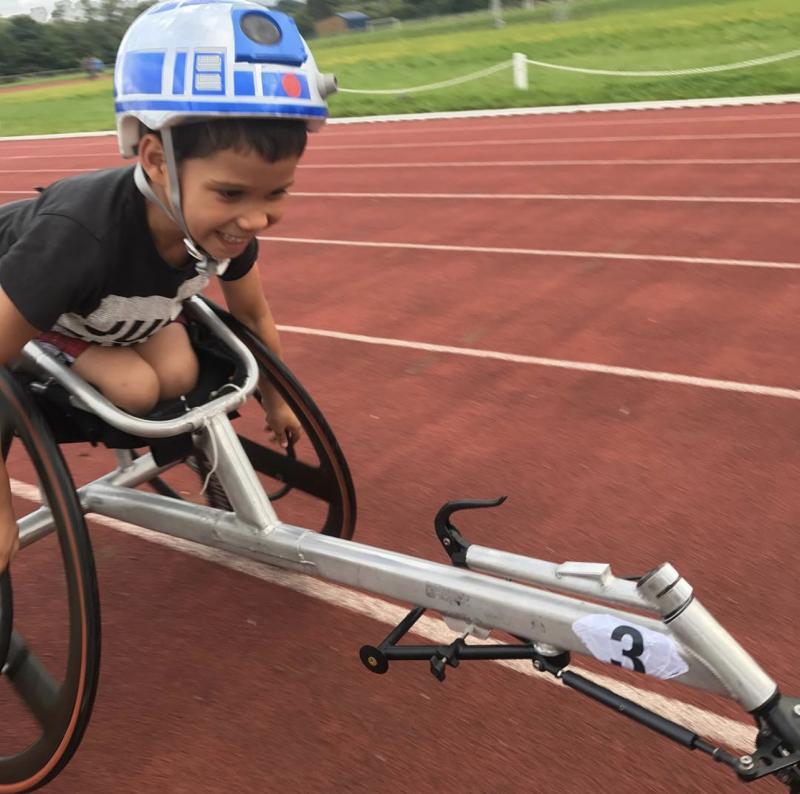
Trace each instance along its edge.
<path fill-rule="evenodd" d="M 288 450 L 281 451 L 258 440 L 264 436 L 264 413 L 255 397 L 238 409 L 234 420 L 239 440 L 270 501 L 280 500 L 275 509 L 281 519 L 296 526 L 316 528 L 324 535 L 352 537 L 356 522 L 355 488 L 344 455 L 322 412 L 259 339 L 219 306 L 211 301 L 206 303 L 247 345 L 262 377 L 274 385 L 303 427 L 306 438 L 296 448 L 290 445 Z M 199 482 L 206 483 L 202 496 L 206 503 L 230 510 L 221 484 L 213 473 L 209 476 L 211 467 L 204 456 L 198 452 L 187 458 L 186 463 Z M 166 478 L 151 481 L 150 485 L 171 496 L 198 498 L 197 494 L 181 491 Z"/>

